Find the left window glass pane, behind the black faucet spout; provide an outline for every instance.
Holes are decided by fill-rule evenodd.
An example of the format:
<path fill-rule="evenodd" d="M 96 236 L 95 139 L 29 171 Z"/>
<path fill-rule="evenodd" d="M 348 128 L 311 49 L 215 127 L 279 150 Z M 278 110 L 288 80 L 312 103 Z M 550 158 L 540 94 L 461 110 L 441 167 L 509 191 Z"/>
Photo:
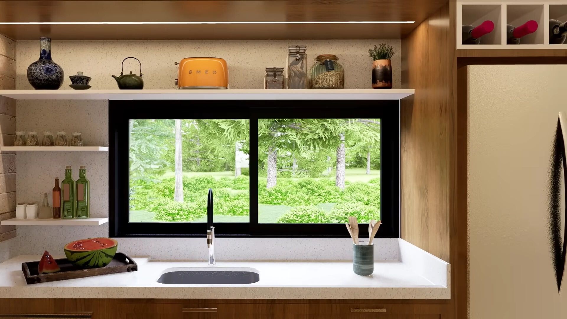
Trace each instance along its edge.
<path fill-rule="evenodd" d="M 249 221 L 249 120 L 130 120 L 130 223 Z"/>

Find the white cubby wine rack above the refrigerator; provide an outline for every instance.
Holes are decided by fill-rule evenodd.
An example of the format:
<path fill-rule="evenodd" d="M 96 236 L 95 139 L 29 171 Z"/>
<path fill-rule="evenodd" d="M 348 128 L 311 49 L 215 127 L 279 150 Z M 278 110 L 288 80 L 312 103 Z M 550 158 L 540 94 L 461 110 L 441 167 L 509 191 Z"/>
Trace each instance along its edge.
<path fill-rule="evenodd" d="M 567 21 L 567 0 L 516 0 L 480 2 L 461 0 L 457 2 L 456 48 L 457 49 L 567 49 L 565 44 L 549 44 L 549 19 Z M 494 30 L 481 37 L 480 44 L 462 44 L 462 26 L 479 26 L 485 20 L 494 23 Z M 528 20 L 535 20 L 535 32 L 521 37 L 520 44 L 506 44 L 506 25 L 518 27 Z"/>

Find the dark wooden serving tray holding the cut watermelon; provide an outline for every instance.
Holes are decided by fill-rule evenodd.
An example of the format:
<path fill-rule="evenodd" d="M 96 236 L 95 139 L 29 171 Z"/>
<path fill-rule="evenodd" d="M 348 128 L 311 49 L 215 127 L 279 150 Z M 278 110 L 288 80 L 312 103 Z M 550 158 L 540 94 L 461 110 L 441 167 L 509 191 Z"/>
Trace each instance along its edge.
<path fill-rule="evenodd" d="M 53 274 L 42 274 L 37 272 L 37 262 L 24 262 L 22 263 L 22 272 L 26 278 L 27 284 L 37 284 L 46 282 L 56 282 L 57 280 L 84 278 L 98 275 L 118 274 L 119 272 L 138 271 L 138 264 L 128 255 L 123 253 L 116 253 L 112 261 L 106 266 L 101 268 L 80 268 L 71 265 L 67 258 L 55 259 L 61 271 L 54 272 Z"/>

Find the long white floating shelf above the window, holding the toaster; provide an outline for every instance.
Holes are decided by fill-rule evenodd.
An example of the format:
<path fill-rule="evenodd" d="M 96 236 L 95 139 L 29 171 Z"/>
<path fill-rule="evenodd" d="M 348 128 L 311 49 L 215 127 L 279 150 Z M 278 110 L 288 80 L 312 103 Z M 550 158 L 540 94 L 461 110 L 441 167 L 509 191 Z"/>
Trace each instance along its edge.
<path fill-rule="evenodd" d="M 18 100 L 399 100 L 413 89 L 392 90 L 0 90 Z"/>

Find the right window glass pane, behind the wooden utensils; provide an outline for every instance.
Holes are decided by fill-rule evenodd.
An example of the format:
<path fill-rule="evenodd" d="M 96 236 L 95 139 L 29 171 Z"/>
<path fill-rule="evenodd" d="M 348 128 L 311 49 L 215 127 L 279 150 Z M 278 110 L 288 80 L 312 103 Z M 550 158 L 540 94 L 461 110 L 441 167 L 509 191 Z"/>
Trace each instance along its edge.
<path fill-rule="evenodd" d="M 380 220 L 380 119 L 259 119 L 259 223 Z"/>

